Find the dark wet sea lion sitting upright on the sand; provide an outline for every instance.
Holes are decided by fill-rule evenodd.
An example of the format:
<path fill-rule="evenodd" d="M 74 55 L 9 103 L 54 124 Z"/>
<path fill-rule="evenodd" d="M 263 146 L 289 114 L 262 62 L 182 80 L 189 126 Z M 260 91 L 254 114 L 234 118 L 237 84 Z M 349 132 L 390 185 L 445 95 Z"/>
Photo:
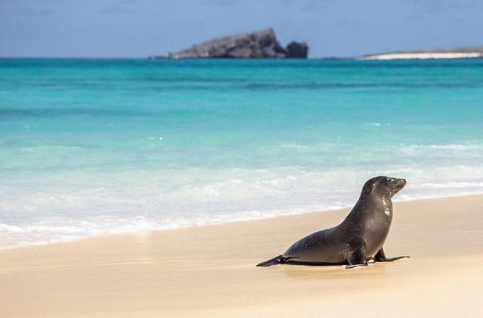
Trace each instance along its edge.
<path fill-rule="evenodd" d="M 276 264 L 367 266 L 367 261 L 392 262 L 382 245 L 392 220 L 391 198 L 406 185 L 405 179 L 373 177 L 362 187 L 354 208 L 336 227 L 318 231 L 295 242 L 283 254 L 257 266 Z"/>

